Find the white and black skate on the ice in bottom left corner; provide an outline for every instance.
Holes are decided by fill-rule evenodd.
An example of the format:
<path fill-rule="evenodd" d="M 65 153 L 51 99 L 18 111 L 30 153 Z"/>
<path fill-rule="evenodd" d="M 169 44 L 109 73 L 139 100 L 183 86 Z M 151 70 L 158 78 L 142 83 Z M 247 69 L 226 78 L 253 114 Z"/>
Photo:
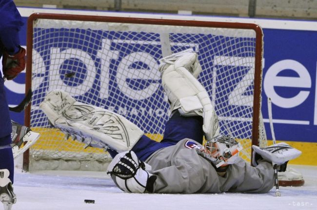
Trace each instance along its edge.
<path fill-rule="evenodd" d="M 12 205 L 17 202 L 17 197 L 13 192 L 13 187 L 9 177 L 9 170 L 0 169 L 0 201 L 4 210 L 11 210 Z"/>

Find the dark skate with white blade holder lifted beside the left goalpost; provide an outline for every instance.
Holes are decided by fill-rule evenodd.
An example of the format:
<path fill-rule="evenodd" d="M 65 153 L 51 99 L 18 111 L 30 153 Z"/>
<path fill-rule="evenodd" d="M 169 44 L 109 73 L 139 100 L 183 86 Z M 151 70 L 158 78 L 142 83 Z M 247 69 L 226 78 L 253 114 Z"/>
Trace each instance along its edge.
<path fill-rule="evenodd" d="M 39 133 L 33 132 L 29 127 L 11 121 L 12 123 L 12 152 L 17 158 L 29 149 L 40 137 Z"/>

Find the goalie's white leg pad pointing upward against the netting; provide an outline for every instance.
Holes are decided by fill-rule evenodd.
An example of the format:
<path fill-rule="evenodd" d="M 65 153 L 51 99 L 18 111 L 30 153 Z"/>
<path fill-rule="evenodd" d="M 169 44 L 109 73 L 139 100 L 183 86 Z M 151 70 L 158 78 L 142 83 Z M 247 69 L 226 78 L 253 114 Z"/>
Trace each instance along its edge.
<path fill-rule="evenodd" d="M 207 91 L 195 77 L 201 71 L 197 54 L 185 52 L 175 61 L 165 63 L 159 70 L 171 109 L 178 109 L 182 116 L 193 116 L 193 113 L 203 116 L 203 131 L 207 140 L 211 140 L 219 134 L 218 117 Z"/>

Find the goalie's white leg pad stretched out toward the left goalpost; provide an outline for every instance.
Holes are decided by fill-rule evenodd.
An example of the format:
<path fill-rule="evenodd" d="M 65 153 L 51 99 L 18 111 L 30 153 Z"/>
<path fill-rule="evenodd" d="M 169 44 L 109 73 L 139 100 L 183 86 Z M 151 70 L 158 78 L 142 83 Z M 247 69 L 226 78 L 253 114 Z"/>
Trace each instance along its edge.
<path fill-rule="evenodd" d="M 86 146 L 122 152 L 132 149 L 144 134 L 121 115 L 77 102 L 63 90 L 48 93 L 40 108 L 54 127 Z"/>

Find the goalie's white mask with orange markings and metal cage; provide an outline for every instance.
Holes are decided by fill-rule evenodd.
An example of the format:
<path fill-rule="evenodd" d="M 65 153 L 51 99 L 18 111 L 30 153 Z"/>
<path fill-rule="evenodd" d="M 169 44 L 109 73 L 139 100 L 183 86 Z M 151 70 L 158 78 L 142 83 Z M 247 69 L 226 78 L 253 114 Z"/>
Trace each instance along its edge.
<path fill-rule="evenodd" d="M 236 162 L 238 152 L 242 146 L 229 135 L 218 135 L 207 141 L 204 146 L 197 150 L 198 154 L 212 162 L 214 166 L 227 166 Z"/>

